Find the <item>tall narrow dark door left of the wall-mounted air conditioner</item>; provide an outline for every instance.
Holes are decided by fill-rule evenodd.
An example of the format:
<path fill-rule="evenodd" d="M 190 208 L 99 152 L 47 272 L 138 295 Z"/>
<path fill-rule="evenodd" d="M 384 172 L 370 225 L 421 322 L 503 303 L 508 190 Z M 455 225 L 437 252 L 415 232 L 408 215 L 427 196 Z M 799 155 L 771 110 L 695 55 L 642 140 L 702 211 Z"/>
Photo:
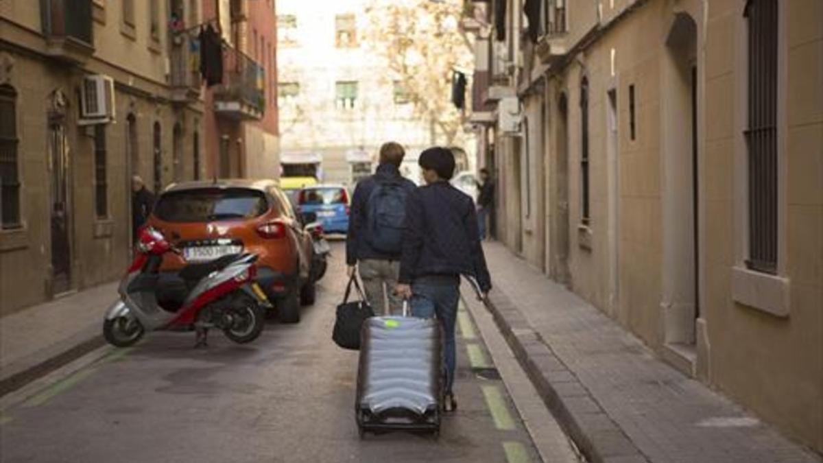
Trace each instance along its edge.
<path fill-rule="evenodd" d="M 51 190 L 52 295 L 72 288 L 72 208 L 69 191 L 69 150 L 61 119 L 49 121 L 49 168 Z"/>

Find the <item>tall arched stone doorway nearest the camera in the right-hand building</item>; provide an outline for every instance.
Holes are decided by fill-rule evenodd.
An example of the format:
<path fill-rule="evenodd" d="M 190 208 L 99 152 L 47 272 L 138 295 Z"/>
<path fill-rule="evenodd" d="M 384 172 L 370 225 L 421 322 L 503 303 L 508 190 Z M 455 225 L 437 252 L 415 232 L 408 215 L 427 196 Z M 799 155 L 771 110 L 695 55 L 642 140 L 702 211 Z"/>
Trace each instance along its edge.
<path fill-rule="evenodd" d="M 694 370 L 700 316 L 697 25 L 677 13 L 663 65 L 663 329 Z"/>

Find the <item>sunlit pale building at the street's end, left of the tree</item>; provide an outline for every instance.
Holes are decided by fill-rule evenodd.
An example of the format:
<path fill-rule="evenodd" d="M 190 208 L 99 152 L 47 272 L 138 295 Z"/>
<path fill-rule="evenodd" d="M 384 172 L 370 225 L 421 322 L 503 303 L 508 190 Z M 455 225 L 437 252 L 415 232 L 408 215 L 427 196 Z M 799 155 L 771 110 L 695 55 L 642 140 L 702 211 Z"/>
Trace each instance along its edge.
<path fill-rule="evenodd" d="M 370 175 L 380 145 L 393 140 L 407 149 L 404 175 L 419 181 L 417 154 L 435 140 L 363 43 L 367 3 L 277 3 L 283 175 L 351 185 Z"/>

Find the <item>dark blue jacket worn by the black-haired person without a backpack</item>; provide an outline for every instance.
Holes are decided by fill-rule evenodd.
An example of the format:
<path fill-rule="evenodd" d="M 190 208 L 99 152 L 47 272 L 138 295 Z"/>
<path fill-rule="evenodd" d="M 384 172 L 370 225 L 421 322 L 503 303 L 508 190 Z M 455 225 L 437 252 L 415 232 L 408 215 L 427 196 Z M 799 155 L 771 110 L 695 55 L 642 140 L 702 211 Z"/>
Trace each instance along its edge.
<path fill-rule="evenodd" d="M 481 291 L 491 289 L 472 198 L 446 181 L 415 189 L 406 199 L 398 281 L 461 274 L 476 278 Z"/>

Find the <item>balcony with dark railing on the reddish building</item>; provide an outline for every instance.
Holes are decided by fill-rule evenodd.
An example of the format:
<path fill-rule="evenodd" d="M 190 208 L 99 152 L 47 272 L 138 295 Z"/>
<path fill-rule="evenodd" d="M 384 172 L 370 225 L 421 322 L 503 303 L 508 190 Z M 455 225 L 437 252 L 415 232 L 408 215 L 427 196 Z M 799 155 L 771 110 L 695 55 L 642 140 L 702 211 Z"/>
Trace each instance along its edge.
<path fill-rule="evenodd" d="M 223 83 L 214 92 L 215 113 L 229 119 L 262 119 L 263 67 L 237 49 L 228 49 L 223 57 Z"/>

